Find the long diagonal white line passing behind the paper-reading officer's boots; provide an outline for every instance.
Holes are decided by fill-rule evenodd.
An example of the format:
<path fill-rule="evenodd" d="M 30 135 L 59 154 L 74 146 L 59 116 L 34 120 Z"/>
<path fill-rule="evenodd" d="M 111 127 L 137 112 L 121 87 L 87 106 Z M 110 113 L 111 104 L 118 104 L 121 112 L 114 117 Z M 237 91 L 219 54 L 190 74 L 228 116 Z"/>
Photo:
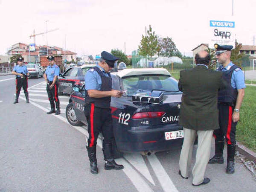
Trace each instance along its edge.
<path fill-rule="evenodd" d="M 23 99 L 26 101 L 26 99 L 24 97 L 20 96 L 20 99 Z M 35 102 L 30 102 L 32 105 L 35 105 L 36 107 L 42 109 L 43 111 L 47 112 L 48 109 L 42 107 L 41 105 L 38 105 Z M 52 114 L 54 115 L 54 114 Z M 60 115 L 54 115 L 55 117 L 57 117 L 58 119 L 60 119 L 63 122 L 66 122 L 68 125 L 69 122 L 67 121 L 66 118 L 64 118 L 63 116 Z M 89 137 L 87 131 L 84 130 L 84 128 L 81 127 L 76 127 L 76 126 L 72 126 L 71 127 L 75 128 L 77 131 L 80 131 L 82 134 L 84 134 L 87 138 Z M 97 145 L 102 148 L 102 142 L 98 142 Z M 153 190 L 150 188 L 150 186 L 143 180 L 143 178 L 129 165 L 129 163 L 127 163 L 123 158 L 119 158 L 116 159 L 116 162 L 119 164 L 123 164 L 124 165 L 124 169 L 123 172 L 129 177 L 129 179 L 131 180 L 131 182 L 134 184 L 134 186 L 136 187 L 136 189 L 139 192 L 153 192 Z"/>

